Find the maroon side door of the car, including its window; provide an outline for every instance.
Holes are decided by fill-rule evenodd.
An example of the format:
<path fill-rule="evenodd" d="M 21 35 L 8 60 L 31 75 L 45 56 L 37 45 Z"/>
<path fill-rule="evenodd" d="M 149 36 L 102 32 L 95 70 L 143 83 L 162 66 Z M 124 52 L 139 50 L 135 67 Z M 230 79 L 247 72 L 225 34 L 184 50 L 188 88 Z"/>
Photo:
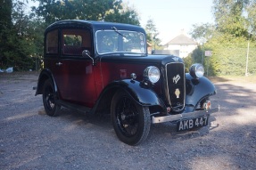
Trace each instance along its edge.
<path fill-rule="evenodd" d="M 61 29 L 61 56 L 56 62 L 57 82 L 63 101 L 92 107 L 96 100 L 94 67 L 83 50 L 92 53 L 92 36 L 87 28 Z"/>

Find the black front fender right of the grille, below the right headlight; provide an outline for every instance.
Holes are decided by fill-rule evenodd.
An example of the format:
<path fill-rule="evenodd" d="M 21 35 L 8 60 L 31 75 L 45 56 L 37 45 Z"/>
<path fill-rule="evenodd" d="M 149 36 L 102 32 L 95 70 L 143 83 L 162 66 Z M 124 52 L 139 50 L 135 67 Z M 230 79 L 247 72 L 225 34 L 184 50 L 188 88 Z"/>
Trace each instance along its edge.
<path fill-rule="evenodd" d="M 186 106 L 195 107 L 203 98 L 214 94 L 216 88 L 207 77 L 194 79 L 186 73 Z"/>

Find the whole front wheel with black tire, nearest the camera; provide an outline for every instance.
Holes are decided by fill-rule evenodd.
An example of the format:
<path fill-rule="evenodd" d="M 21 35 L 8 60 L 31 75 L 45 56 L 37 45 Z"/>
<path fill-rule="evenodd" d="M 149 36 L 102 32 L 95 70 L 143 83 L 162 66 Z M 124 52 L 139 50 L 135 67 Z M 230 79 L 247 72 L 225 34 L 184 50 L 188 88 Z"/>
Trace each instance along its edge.
<path fill-rule="evenodd" d="M 128 145 L 144 142 L 151 126 L 149 108 L 140 106 L 122 91 L 112 99 L 111 121 L 120 141 Z"/>

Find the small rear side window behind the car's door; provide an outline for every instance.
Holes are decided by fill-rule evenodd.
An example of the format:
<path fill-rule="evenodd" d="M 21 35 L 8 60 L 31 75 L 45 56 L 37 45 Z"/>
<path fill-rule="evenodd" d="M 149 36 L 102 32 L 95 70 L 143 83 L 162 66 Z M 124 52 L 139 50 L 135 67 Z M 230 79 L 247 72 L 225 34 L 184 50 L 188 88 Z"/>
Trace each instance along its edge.
<path fill-rule="evenodd" d="M 46 53 L 58 53 L 58 30 L 48 32 L 46 35 Z"/>

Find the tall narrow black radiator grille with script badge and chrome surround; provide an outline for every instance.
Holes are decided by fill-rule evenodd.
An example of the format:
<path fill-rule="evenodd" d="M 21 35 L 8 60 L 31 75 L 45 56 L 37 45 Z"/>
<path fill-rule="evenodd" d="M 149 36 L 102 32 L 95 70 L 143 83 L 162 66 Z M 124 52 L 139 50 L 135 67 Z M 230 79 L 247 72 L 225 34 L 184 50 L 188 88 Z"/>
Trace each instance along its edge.
<path fill-rule="evenodd" d="M 185 107 L 185 67 L 179 62 L 166 64 L 167 98 L 169 105 L 176 111 Z"/>

